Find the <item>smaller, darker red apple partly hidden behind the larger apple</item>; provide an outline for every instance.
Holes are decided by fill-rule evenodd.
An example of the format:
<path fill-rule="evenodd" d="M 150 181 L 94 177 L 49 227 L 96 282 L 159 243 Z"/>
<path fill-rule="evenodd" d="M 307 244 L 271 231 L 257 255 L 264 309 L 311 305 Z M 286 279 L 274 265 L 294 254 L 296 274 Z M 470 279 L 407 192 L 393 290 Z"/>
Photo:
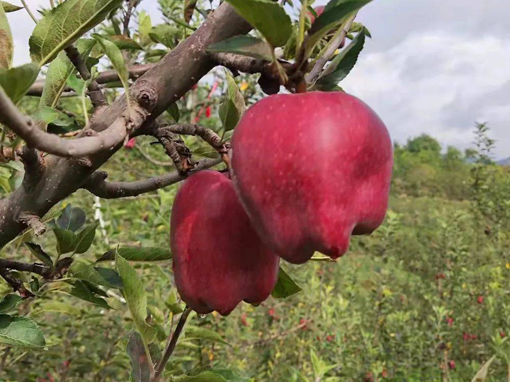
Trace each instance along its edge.
<path fill-rule="evenodd" d="M 172 208 L 175 285 L 201 314 L 229 314 L 242 300 L 263 302 L 278 277 L 279 257 L 251 227 L 232 181 L 217 171 L 191 175 Z"/>

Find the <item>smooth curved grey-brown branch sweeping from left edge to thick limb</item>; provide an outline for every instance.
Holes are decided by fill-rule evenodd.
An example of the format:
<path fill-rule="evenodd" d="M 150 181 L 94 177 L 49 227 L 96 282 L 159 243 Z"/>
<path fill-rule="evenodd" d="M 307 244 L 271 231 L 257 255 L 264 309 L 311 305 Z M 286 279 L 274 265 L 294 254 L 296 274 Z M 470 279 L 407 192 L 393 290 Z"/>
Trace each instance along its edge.
<path fill-rule="evenodd" d="M 29 146 L 59 156 L 82 157 L 113 149 L 124 141 L 127 134 L 125 120 L 119 117 L 109 128 L 94 137 L 73 140 L 60 138 L 39 129 L 32 119 L 18 110 L 3 89 L 0 89 L 0 122 L 8 125 Z"/>

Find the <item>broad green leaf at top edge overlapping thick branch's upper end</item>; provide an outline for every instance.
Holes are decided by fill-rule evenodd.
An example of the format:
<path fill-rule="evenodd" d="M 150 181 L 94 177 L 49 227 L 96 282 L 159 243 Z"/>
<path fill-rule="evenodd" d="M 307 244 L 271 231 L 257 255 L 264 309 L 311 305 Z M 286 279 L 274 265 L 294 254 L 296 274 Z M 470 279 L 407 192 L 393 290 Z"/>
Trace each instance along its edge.
<path fill-rule="evenodd" d="M 278 3 L 268 0 L 226 0 L 272 47 L 283 46 L 292 33 L 292 21 Z"/>

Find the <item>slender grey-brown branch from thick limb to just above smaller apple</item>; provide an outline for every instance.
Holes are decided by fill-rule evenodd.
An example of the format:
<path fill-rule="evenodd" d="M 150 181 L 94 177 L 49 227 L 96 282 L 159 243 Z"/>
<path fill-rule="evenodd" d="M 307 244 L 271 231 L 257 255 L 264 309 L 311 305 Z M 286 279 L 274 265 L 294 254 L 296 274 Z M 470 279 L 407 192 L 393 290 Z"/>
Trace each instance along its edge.
<path fill-rule="evenodd" d="M 195 171 L 213 167 L 221 162 L 221 159 L 202 159 L 196 163 L 193 170 Z M 98 171 L 92 174 L 83 188 L 89 190 L 95 196 L 105 199 L 125 198 L 130 196 L 138 196 L 159 188 L 166 187 L 170 184 L 180 182 L 186 178 L 179 171 L 171 172 L 161 176 L 138 180 L 135 182 L 108 182 L 106 181 L 107 174 L 104 171 Z"/>

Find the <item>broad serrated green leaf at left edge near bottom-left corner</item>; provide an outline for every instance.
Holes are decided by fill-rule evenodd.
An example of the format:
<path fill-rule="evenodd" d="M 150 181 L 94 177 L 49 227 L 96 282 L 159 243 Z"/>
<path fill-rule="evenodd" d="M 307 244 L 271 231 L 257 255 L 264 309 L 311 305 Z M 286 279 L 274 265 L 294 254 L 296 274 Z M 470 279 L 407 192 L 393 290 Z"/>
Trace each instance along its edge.
<path fill-rule="evenodd" d="M 46 345 L 39 326 L 30 318 L 0 314 L 0 343 L 24 348 Z"/>

